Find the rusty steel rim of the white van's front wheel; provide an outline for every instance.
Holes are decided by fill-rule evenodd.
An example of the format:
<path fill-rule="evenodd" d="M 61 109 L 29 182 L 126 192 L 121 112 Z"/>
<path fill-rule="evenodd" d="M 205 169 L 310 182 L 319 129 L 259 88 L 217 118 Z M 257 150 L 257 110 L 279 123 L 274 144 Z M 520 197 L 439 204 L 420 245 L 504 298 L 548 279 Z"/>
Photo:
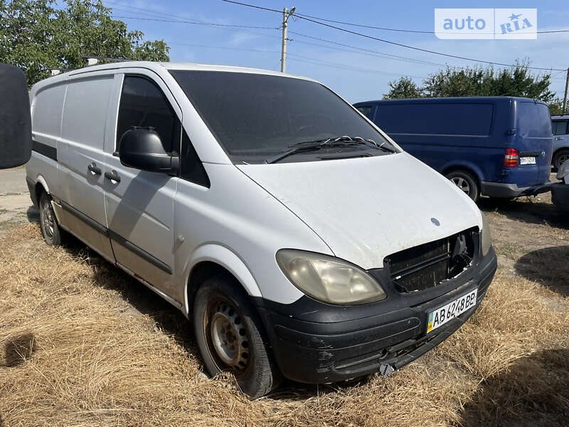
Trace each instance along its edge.
<path fill-rule="evenodd" d="M 250 367 L 249 334 L 235 306 L 217 297 L 206 308 L 203 332 L 208 351 L 220 371 L 244 376 Z"/>

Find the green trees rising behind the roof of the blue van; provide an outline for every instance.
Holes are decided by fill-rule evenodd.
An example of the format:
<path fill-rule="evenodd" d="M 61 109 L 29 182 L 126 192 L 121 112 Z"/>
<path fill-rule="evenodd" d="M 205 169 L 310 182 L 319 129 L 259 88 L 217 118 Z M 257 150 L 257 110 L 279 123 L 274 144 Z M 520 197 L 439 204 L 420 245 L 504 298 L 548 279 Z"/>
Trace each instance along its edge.
<path fill-rule="evenodd" d="M 413 90 L 405 93 L 405 97 L 408 97 L 407 94 L 410 93 L 418 93 L 420 94 L 418 96 L 423 97 L 520 96 L 544 102 L 553 101 L 555 95 L 549 90 L 551 74 L 532 74 L 527 61 L 516 62 L 516 65 L 497 71 L 492 66 L 487 68 L 450 68 L 447 66 L 429 75 L 420 88 L 407 77 L 390 82 L 390 91 L 384 95 L 384 98 L 400 97 L 398 95 L 406 88 L 405 85 L 412 83 Z"/>

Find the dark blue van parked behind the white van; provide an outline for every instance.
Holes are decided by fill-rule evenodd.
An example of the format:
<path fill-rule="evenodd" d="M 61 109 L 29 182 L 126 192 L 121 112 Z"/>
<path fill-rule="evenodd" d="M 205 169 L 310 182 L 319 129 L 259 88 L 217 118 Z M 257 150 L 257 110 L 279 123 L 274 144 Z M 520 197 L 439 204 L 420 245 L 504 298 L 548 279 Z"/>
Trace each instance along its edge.
<path fill-rule="evenodd" d="M 354 104 L 413 156 L 474 201 L 549 190 L 551 115 L 522 97 L 447 97 Z"/>

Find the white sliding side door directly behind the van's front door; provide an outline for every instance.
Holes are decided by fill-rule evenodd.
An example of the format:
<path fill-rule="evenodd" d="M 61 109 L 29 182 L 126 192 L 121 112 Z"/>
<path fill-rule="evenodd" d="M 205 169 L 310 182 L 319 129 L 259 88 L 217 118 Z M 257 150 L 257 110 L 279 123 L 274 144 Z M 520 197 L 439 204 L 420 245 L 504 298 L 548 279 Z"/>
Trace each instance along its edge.
<path fill-rule="evenodd" d="M 109 73 L 68 81 L 58 145 L 60 223 L 110 260 L 102 150 L 112 81 Z"/>

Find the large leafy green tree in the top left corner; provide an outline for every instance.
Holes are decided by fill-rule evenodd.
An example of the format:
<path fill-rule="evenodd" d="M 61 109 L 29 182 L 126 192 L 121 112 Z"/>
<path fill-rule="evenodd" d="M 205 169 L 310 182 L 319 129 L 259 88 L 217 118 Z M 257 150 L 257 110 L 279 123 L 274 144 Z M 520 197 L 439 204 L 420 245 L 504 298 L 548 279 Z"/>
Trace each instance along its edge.
<path fill-rule="evenodd" d="M 0 62 L 18 65 L 28 84 L 53 68 L 85 66 L 82 56 L 169 60 L 169 46 L 112 19 L 101 0 L 0 0 Z"/>

